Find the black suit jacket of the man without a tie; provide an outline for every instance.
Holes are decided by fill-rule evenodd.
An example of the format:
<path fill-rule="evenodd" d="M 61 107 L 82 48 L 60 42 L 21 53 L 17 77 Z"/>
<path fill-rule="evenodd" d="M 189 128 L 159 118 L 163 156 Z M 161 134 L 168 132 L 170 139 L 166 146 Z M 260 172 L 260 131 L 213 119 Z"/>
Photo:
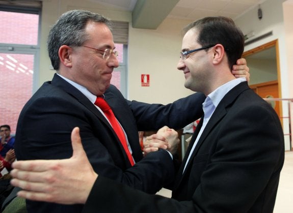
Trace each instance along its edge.
<path fill-rule="evenodd" d="M 212 114 L 182 174 L 200 126 L 173 199 L 109 186 L 98 177 L 84 212 L 273 212 L 284 161 L 284 136 L 273 108 L 247 82 L 235 86 Z"/>

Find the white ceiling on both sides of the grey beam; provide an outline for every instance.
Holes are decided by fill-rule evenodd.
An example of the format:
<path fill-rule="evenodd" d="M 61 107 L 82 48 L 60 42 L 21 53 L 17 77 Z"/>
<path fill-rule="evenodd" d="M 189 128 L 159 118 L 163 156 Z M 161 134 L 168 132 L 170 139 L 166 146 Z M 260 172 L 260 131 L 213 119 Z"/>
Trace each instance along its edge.
<path fill-rule="evenodd" d="M 137 0 L 89 1 L 99 2 L 122 11 L 132 11 L 137 3 Z M 228 16 L 235 19 L 250 9 L 258 7 L 258 5 L 265 1 L 266 0 L 180 0 L 169 13 L 168 17 L 196 20 L 204 16 Z"/>

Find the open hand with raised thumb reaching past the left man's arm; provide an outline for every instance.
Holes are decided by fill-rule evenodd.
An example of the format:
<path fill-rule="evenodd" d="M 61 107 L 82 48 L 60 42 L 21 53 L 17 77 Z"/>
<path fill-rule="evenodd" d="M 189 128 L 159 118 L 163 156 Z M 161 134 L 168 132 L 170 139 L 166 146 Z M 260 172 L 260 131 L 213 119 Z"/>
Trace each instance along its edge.
<path fill-rule="evenodd" d="M 61 204 L 85 203 L 97 178 L 79 136 L 71 133 L 73 155 L 64 160 L 17 161 L 12 164 L 11 184 L 25 199 Z M 78 196 L 77 196 L 78 195 Z"/>

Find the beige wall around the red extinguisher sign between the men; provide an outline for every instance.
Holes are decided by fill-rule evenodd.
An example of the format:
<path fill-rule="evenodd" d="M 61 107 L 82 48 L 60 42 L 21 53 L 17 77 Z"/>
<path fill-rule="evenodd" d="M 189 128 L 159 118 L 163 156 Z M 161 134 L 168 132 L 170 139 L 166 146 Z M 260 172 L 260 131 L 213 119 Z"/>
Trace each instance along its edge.
<path fill-rule="evenodd" d="M 166 19 L 156 30 L 129 29 L 129 99 L 169 103 L 192 92 L 184 87 L 184 75 L 176 69 L 181 50 L 181 29 L 189 21 Z M 150 75 L 142 87 L 141 74 Z"/>

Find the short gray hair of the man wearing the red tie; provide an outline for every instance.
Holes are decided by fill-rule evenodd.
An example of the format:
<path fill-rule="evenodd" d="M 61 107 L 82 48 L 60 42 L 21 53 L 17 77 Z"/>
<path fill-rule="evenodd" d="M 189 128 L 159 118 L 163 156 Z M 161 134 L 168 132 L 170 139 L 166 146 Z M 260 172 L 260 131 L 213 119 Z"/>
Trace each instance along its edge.
<path fill-rule="evenodd" d="M 89 39 L 89 35 L 85 32 L 89 21 L 104 23 L 109 29 L 112 29 L 112 23 L 109 19 L 85 10 L 65 12 L 52 26 L 48 36 L 47 48 L 51 64 L 55 70 L 59 70 L 58 51 L 62 45 L 80 46 Z"/>

